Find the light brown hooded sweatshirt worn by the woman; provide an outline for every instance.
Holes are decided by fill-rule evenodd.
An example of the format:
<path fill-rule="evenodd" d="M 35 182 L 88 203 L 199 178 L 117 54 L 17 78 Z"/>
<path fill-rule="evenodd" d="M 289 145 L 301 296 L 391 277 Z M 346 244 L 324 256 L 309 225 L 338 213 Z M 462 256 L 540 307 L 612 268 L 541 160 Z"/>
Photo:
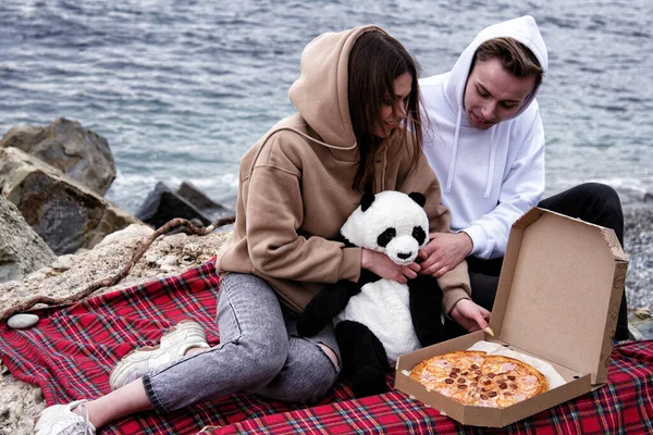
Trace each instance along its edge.
<path fill-rule="evenodd" d="M 300 311 L 325 285 L 358 281 L 360 248 L 332 241 L 358 207 L 352 189 L 358 149 L 349 117 L 349 51 L 375 26 L 328 33 L 301 53 L 301 76 L 288 91 L 297 108 L 256 142 L 241 161 L 236 222 L 218 253 L 221 273 L 249 273 L 266 279 L 282 302 Z M 448 232 L 448 210 L 440 206 L 440 185 L 426 157 L 410 171 L 411 154 L 398 138 L 374 164 L 374 191 L 420 191 L 427 197 L 430 232 Z M 438 279 L 445 312 L 468 297 L 463 262 Z"/>

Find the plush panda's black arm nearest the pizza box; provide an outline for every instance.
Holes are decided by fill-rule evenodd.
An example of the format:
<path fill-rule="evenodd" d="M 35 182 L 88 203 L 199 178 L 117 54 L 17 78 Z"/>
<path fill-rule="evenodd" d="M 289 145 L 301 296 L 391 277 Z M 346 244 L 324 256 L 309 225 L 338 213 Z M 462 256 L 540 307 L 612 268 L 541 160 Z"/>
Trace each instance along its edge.
<path fill-rule="evenodd" d="M 410 315 L 417 338 L 431 346 L 445 338 L 442 324 L 442 290 L 432 276 L 419 275 L 408 282 Z"/>

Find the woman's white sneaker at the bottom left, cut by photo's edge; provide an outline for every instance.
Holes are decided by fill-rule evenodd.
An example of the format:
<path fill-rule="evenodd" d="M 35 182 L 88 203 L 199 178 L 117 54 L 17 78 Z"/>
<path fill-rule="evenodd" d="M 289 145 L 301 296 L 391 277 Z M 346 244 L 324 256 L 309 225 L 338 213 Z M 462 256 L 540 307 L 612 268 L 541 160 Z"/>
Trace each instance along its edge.
<path fill-rule="evenodd" d="M 84 415 L 73 412 L 75 408 L 79 408 Z M 44 409 L 34 430 L 36 435 L 95 435 L 96 432 L 88 421 L 86 400 L 53 405 Z"/>

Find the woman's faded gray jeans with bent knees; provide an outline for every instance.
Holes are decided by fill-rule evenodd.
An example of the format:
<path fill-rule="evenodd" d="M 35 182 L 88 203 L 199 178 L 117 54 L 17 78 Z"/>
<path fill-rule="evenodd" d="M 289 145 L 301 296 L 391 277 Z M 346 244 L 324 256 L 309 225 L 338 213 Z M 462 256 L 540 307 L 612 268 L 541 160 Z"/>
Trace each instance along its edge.
<path fill-rule="evenodd" d="M 333 327 L 298 337 L 296 319 L 257 276 L 230 273 L 222 278 L 217 323 L 220 345 L 143 377 L 156 410 L 169 412 L 234 393 L 313 401 L 337 377 L 340 366 L 320 346 L 331 348 L 340 361 Z"/>

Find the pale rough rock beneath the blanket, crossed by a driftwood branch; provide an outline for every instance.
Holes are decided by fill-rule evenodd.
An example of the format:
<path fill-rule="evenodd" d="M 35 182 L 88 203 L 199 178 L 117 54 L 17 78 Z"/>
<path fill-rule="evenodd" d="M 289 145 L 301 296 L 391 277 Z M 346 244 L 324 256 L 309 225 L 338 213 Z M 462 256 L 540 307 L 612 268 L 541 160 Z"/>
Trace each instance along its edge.
<path fill-rule="evenodd" d="M 124 228 L 120 233 L 122 234 L 107 236 L 93 249 L 71 256 L 74 265 L 69 270 L 57 271 L 48 268 L 34 274 L 30 281 L 23 278 L 21 282 L 1 283 L 0 312 L 27 297 L 45 295 L 62 298 L 81 291 L 97 281 L 114 276 L 127 264 L 152 229 L 140 224 Z M 168 273 L 162 273 L 156 262 L 149 263 L 141 259 L 122 282 L 112 287 L 104 287 L 94 296 L 171 274 L 178 275 L 198 266 L 215 256 L 227 236 L 222 233 L 211 233 L 206 236 L 184 234 L 161 236 L 152 243 L 146 254 L 155 259 L 175 256 L 177 264 L 168 265 L 170 268 Z M 0 376 L 0 415 L 8 412 L 7 418 L 0 418 L 0 434 L 32 434 L 34 419 L 46 407 L 42 394 L 39 393 L 40 388 L 20 382 L 8 373 Z"/>

